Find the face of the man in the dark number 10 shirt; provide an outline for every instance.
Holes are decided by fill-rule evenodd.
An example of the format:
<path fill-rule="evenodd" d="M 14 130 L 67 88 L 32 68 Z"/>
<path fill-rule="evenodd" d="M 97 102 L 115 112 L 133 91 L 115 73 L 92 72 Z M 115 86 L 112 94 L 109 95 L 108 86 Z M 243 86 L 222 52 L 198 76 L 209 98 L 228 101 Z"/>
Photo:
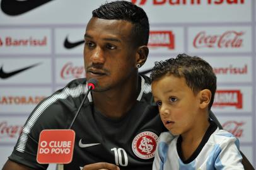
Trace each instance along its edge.
<path fill-rule="evenodd" d="M 91 18 L 84 35 L 86 78 L 98 80 L 95 91 L 107 91 L 129 81 L 137 72 L 137 48 L 132 46 L 132 23 Z"/>

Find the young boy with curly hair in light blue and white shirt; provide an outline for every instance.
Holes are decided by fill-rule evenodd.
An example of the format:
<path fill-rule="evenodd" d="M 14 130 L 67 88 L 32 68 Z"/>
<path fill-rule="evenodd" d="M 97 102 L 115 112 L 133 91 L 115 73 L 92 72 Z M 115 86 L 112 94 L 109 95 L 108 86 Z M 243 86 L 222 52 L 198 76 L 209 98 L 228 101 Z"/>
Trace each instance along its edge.
<path fill-rule="evenodd" d="M 238 139 L 209 119 L 216 91 L 211 65 L 179 54 L 156 62 L 151 78 L 154 101 L 170 131 L 160 135 L 153 169 L 243 169 Z"/>

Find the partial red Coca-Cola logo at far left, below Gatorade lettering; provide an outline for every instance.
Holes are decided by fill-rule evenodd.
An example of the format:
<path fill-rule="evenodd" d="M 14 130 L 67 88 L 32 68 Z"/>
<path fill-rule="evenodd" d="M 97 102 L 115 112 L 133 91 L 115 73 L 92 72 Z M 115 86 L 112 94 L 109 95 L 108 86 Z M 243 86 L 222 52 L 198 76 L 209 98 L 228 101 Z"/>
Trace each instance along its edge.
<path fill-rule="evenodd" d="M 22 128 L 21 125 L 9 125 L 6 121 L 0 122 L 0 139 L 16 138 L 20 135 Z"/>

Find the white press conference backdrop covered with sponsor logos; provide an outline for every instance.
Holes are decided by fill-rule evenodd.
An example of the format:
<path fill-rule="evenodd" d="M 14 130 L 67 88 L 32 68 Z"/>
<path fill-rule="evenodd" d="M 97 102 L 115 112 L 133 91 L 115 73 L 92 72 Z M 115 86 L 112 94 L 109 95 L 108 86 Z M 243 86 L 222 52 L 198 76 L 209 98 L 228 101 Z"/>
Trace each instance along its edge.
<path fill-rule="evenodd" d="M 91 11 L 105 0 L 6 2 L 1 0 L 0 11 L 1 166 L 37 103 L 84 77 L 84 30 Z M 218 77 L 212 111 L 255 166 L 255 1 L 132 2 L 148 13 L 151 26 L 149 57 L 139 71 L 180 53 L 207 60 Z"/>

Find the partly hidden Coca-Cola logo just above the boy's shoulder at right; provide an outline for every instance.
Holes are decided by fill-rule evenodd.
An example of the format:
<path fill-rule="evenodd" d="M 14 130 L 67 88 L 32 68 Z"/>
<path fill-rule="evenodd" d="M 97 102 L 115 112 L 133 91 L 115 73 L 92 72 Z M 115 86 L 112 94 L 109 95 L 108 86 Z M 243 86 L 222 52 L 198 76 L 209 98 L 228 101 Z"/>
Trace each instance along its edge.
<path fill-rule="evenodd" d="M 245 122 L 236 122 L 235 120 L 233 121 L 228 121 L 225 122 L 222 126 L 223 129 L 232 133 L 235 137 L 241 137 L 243 135 L 243 125 Z"/>

